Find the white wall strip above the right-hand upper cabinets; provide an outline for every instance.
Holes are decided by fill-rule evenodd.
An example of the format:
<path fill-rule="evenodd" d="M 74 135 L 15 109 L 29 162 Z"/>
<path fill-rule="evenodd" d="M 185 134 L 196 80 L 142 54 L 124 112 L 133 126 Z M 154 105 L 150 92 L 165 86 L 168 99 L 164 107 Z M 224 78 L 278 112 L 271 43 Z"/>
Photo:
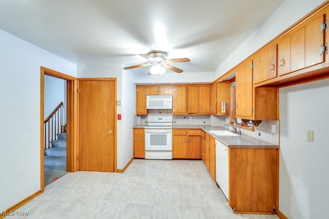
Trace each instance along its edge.
<path fill-rule="evenodd" d="M 324 2 L 323 0 L 285 0 L 257 30 L 217 67 L 213 74 L 213 81 Z"/>

